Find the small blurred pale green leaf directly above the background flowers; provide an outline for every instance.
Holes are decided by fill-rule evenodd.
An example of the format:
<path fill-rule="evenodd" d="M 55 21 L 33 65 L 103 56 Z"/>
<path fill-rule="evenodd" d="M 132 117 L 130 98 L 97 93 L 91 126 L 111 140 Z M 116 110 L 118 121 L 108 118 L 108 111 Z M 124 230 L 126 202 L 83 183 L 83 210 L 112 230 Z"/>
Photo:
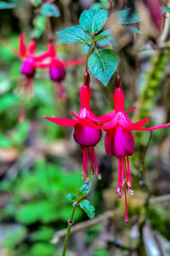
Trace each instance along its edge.
<path fill-rule="evenodd" d="M 46 23 L 46 18 L 43 15 L 38 15 L 34 20 L 33 20 L 33 25 L 34 25 L 34 30 L 32 31 L 32 35 L 35 38 L 39 38 L 42 35 L 42 32 L 45 30 L 45 23 Z"/>

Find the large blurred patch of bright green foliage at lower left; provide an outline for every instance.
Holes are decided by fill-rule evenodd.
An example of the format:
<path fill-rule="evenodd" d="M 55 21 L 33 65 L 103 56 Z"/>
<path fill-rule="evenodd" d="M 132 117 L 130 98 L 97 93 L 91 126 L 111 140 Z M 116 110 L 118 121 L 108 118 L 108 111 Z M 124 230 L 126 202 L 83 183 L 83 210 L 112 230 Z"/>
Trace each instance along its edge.
<path fill-rule="evenodd" d="M 65 173 L 60 166 L 47 166 L 45 161 L 39 160 L 33 173 L 25 170 L 12 183 L 3 183 L 1 189 L 12 193 L 9 208 L 17 221 L 23 224 L 49 224 L 70 218 L 71 208 L 63 195 L 70 190 L 76 193 L 77 183 L 81 183 L 80 171 Z M 29 198 L 29 201 L 23 201 L 25 198 Z M 10 214 L 9 208 L 6 214 Z M 75 219 L 80 216 L 81 212 L 77 211 Z"/>

